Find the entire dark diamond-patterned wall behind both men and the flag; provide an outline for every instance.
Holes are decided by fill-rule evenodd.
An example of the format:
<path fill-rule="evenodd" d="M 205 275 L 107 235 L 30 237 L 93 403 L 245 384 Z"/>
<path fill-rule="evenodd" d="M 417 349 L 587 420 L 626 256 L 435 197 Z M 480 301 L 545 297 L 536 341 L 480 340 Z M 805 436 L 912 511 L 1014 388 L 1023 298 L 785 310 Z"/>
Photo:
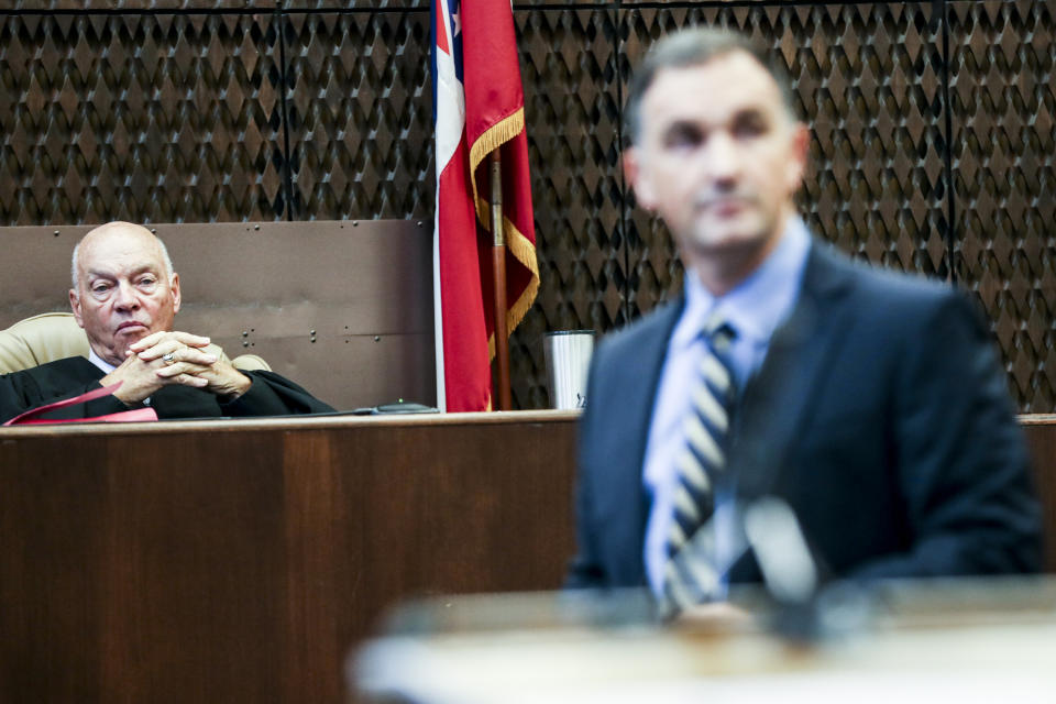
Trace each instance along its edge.
<path fill-rule="evenodd" d="M 6 7 L 0 224 L 431 221 L 425 0 Z M 538 0 L 515 20 L 542 277 L 513 338 L 518 407 L 547 404 L 543 332 L 605 332 L 680 288 L 620 175 L 622 100 L 652 41 L 707 23 L 789 67 L 815 232 L 972 290 L 1021 409 L 1056 408 L 1049 0 Z"/>

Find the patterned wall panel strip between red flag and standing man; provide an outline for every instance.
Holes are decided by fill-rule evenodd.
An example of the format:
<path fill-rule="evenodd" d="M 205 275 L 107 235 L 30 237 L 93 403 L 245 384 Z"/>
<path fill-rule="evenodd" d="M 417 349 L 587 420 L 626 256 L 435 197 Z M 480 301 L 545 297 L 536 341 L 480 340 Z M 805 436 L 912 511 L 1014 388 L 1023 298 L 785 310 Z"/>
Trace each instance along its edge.
<path fill-rule="evenodd" d="M 626 320 L 616 15 L 518 10 L 540 286 L 510 339 L 516 407 L 547 405 L 543 334 Z"/>

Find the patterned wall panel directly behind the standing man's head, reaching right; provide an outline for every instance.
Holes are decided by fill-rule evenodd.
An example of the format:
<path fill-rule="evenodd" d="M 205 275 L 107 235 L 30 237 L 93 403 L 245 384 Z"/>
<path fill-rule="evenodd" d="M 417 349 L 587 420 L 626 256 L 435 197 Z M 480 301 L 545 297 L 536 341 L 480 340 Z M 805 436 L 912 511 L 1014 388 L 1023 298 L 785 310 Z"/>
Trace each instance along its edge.
<path fill-rule="evenodd" d="M 813 128 L 801 211 L 821 237 L 897 268 L 946 276 L 942 43 L 931 6 L 743 6 L 628 9 L 622 77 L 659 36 L 718 25 L 771 47 Z M 681 287 L 670 233 L 630 210 L 635 314 Z"/>

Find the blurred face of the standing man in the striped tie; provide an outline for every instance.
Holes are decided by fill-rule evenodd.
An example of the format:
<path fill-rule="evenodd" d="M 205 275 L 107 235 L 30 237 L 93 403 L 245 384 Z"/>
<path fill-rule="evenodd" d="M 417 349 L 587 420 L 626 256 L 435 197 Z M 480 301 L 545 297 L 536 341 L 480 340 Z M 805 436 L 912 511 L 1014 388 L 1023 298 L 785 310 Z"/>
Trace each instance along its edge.
<path fill-rule="evenodd" d="M 807 138 L 762 65 L 734 51 L 662 68 L 642 96 L 639 124 L 628 176 L 688 264 L 772 246 L 793 211 Z"/>

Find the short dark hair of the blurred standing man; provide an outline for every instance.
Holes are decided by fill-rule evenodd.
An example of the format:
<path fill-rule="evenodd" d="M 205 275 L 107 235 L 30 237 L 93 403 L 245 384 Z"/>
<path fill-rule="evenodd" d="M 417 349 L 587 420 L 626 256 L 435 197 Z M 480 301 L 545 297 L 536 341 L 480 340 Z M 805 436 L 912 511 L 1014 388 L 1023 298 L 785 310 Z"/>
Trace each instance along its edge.
<path fill-rule="evenodd" d="M 660 70 L 700 66 L 733 52 L 749 54 L 767 69 L 778 84 L 789 117 L 794 120 L 795 109 L 788 74 L 782 65 L 773 61 L 769 52 L 736 32 L 713 28 L 690 28 L 669 34 L 653 44 L 631 77 L 624 111 L 627 134 L 631 142 L 637 142 L 641 136 L 641 100 Z"/>

